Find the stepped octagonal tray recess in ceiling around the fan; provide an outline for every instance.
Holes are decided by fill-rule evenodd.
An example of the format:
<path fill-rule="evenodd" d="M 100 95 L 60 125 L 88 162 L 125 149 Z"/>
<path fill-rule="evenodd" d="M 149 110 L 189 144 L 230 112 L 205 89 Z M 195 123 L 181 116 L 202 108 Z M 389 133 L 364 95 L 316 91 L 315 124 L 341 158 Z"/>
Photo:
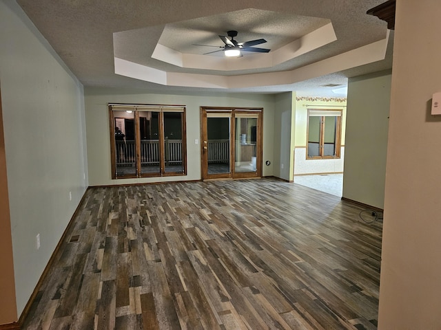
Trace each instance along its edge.
<path fill-rule="evenodd" d="M 223 52 L 205 54 L 214 47 L 195 45 L 221 47 L 218 35 L 226 36 L 227 30 L 238 31 L 238 42 L 266 39 L 263 45 L 271 52 L 243 52 L 243 57 L 227 58 Z M 328 57 L 323 46 L 337 40 L 329 19 L 249 8 L 116 32 L 114 69 L 121 76 L 161 85 L 269 87 L 380 61 L 388 39 L 389 32 L 380 41 Z"/>

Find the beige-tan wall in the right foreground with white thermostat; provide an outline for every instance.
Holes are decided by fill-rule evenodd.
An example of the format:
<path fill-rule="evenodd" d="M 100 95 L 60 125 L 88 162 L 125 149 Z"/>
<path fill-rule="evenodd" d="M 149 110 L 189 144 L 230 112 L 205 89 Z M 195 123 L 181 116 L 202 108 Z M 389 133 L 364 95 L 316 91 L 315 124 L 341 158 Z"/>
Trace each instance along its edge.
<path fill-rule="evenodd" d="M 441 3 L 397 1 L 378 329 L 441 329 Z"/>

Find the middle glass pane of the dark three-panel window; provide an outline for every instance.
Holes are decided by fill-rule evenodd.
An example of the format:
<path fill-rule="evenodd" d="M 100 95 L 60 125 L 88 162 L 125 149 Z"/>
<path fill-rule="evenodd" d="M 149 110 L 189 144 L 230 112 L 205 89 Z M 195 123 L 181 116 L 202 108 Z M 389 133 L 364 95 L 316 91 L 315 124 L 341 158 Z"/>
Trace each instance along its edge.
<path fill-rule="evenodd" d="M 141 174 L 161 173 L 159 151 L 159 113 L 139 111 L 139 132 L 141 137 Z"/>

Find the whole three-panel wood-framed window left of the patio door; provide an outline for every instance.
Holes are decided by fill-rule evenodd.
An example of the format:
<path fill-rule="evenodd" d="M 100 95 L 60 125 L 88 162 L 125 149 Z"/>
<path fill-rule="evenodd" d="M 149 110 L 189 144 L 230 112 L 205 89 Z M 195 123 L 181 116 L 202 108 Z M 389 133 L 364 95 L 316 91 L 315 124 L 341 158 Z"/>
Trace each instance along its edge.
<path fill-rule="evenodd" d="M 112 179 L 187 174 L 185 107 L 109 104 Z"/>

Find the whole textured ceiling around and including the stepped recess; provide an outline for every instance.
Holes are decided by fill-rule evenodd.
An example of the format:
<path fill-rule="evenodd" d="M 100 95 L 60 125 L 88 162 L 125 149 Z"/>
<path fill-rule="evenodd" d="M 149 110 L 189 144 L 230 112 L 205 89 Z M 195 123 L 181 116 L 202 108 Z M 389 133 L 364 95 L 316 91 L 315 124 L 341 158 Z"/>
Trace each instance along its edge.
<path fill-rule="evenodd" d="M 332 96 L 330 87 L 320 86 L 329 83 L 346 85 L 348 77 L 391 69 L 392 65 L 393 33 L 388 36 L 387 23 L 366 14 L 367 10 L 384 0 L 17 2 L 85 86 L 140 88 L 154 92 L 278 93 L 296 90 L 304 95 Z M 275 61 L 274 56 L 282 52 L 280 49 L 283 46 L 290 43 L 305 46 L 311 41 L 308 37 L 311 32 L 328 23 L 331 23 L 336 40 L 312 47 L 305 54 L 287 56 L 280 63 Z M 197 65 L 185 67 L 164 61 L 161 56 L 152 58 L 159 44 L 180 58 L 192 58 L 194 63 L 201 65 L 205 61 L 225 61 L 223 56 L 218 56 L 222 52 L 202 55 L 216 50 L 216 47 L 194 44 L 221 46 L 223 43 L 218 35 L 226 36 L 228 30 L 239 32 L 236 37 L 239 42 L 266 39 L 267 43 L 256 47 L 269 48 L 271 52 L 247 53 L 243 58 L 229 58 L 236 61 L 232 70 L 218 67 L 213 70 Z M 387 38 L 389 43 L 385 56 L 374 56 L 371 63 L 357 61 L 357 57 L 368 52 L 364 46 Z M 146 68 L 146 79 L 115 74 L 115 57 L 136 65 L 135 68 L 141 68 L 141 72 Z M 338 58 L 347 65 L 336 65 Z M 265 65 L 248 67 L 250 61 Z M 168 83 L 168 78 L 165 79 L 166 83 L 158 83 L 149 77 L 152 70 L 167 77 L 181 75 L 175 80 L 183 83 L 174 83 L 172 79 Z M 138 76 L 138 73 L 134 76 Z M 193 79 L 196 76 L 196 87 L 185 83 L 188 77 Z M 234 80 L 222 88 L 203 86 L 201 81 L 210 80 L 212 76 Z M 254 77 L 260 83 L 253 83 L 256 80 Z M 279 80 L 278 77 L 283 79 Z"/>

